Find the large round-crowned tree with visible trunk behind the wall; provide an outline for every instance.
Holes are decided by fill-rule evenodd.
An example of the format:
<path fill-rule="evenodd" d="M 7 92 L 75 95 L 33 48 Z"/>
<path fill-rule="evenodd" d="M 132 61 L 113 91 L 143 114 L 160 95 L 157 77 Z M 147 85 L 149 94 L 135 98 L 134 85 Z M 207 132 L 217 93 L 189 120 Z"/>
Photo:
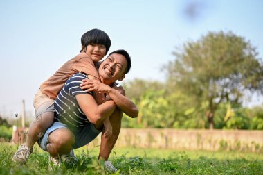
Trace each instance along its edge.
<path fill-rule="evenodd" d="M 174 56 L 164 67 L 168 87 L 198 101 L 196 108 L 207 103 L 210 128 L 221 102 L 241 103 L 244 90 L 263 92 L 263 67 L 255 47 L 231 32 L 210 32 L 184 44 Z"/>

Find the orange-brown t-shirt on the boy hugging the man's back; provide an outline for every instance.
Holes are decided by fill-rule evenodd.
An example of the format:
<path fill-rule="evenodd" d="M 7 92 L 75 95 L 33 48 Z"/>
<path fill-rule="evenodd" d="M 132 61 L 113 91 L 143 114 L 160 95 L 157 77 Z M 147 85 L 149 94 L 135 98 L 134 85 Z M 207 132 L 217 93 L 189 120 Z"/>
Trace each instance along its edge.
<path fill-rule="evenodd" d="M 71 60 L 67 61 L 58 69 L 53 76 L 48 78 L 42 85 L 40 85 L 40 90 L 43 94 L 46 94 L 49 98 L 54 99 L 57 94 L 62 90 L 66 80 L 78 72 L 84 72 L 87 75 L 91 75 L 100 81 L 100 76 L 98 75 L 98 70 L 96 69 L 93 61 L 87 55 L 87 53 L 82 52 L 75 56 Z"/>

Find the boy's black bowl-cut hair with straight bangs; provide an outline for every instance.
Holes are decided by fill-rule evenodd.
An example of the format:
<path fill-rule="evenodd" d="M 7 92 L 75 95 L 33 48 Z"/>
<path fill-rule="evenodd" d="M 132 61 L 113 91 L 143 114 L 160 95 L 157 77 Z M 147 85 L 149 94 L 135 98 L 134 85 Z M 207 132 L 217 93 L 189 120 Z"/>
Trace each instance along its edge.
<path fill-rule="evenodd" d="M 87 48 L 89 44 L 102 44 L 106 47 L 106 53 L 109 51 L 109 47 L 111 47 L 111 39 L 109 39 L 109 36 L 104 31 L 94 28 L 90 31 L 87 31 L 84 33 L 81 37 L 81 45 L 82 50 Z"/>

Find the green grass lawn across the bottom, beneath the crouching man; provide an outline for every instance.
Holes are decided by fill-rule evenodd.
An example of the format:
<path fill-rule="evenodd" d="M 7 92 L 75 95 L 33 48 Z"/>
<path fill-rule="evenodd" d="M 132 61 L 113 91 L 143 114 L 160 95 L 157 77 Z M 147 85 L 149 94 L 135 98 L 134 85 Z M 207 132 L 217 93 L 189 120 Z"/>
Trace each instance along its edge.
<path fill-rule="evenodd" d="M 0 143 L 0 174 L 105 174 L 98 147 L 75 151 L 78 163 L 48 170 L 48 153 L 35 147 L 26 165 L 12 163 L 17 145 Z M 122 174 L 263 174 L 262 153 L 114 149 L 109 158 Z"/>

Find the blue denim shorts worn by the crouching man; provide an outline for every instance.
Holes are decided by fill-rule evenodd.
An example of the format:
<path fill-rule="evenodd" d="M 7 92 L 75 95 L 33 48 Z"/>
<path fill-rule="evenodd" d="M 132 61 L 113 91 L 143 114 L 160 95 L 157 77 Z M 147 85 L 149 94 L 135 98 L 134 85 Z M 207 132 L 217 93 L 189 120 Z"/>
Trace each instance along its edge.
<path fill-rule="evenodd" d="M 53 125 L 48 128 L 48 130 L 46 130 L 46 133 L 44 133 L 43 137 L 38 140 L 39 147 L 42 148 L 44 151 L 48 151 L 46 149 L 46 145 L 49 143 L 48 135 L 60 128 L 67 128 L 69 129 L 69 131 L 71 131 L 71 129 L 66 126 L 66 124 L 54 122 Z M 100 134 L 100 131 L 96 129 L 93 124 L 86 123 L 80 131 L 72 133 L 75 135 L 75 144 L 73 144 L 73 149 L 78 149 L 94 140 Z"/>

